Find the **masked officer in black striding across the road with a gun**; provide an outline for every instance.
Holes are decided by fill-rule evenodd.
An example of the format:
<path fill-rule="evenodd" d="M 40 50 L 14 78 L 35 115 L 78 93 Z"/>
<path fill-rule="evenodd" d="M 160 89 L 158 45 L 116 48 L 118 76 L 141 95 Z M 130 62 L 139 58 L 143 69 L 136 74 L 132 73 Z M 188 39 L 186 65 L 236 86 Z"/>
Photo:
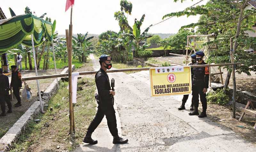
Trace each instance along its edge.
<path fill-rule="evenodd" d="M 116 112 L 114 109 L 113 100 L 111 98 L 111 95 L 115 95 L 115 91 L 111 90 L 108 74 L 106 73 L 107 69 L 109 70 L 112 67 L 112 58 L 108 55 L 101 55 L 99 59 L 100 70 L 95 75 L 95 82 L 98 89 L 100 102 L 98 106 L 98 111 L 95 115 L 95 118 L 92 120 L 90 126 L 87 129 L 83 142 L 89 144 L 98 143 L 98 141 L 93 140 L 91 136 L 93 131 L 102 121 L 104 115 L 106 115 L 108 121 L 108 129 L 111 135 L 114 137 L 113 143 L 126 143 L 128 142 L 128 139 L 123 139 L 118 136 L 118 131 L 116 127 Z"/>

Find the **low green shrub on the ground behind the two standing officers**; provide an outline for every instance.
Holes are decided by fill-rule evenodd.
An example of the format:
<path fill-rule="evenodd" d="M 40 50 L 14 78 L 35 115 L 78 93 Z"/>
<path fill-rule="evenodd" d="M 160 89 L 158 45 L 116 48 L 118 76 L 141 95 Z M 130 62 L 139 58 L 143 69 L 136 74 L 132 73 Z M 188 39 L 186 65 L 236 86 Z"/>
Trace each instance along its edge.
<path fill-rule="evenodd" d="M 213 102 L 219 105 L 225 105 L 229 101 L 228 95 L 223 93 L 222 89 L 218 89 L 216 92 L 209 92 L 206 96 L 207 102 Z"/>

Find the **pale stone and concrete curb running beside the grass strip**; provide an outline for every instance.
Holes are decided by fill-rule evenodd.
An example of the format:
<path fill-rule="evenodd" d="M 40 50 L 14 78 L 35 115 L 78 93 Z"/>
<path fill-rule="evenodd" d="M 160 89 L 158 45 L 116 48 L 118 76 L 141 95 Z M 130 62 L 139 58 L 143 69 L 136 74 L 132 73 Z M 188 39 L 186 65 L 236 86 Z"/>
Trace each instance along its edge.
<path fill-rule="evenodd" d="M 72 71 L 75 70 L 75 65 L 72 65 Z M 62 73 L 68 73 L 68 68 L 65 68 Z M 58 78 L 58 82 L 60 78 Z M 57 80 L 54 79 L 52 84 L 46 88 L 42 96 L 43 104 L 47 103 L 51 97 L 57 92 Z M 40 102 L 35 101 L 28 110 L 15 122 L 8 132 L 0 139 L 0 152 L 5 152 L 11 149 L 12 144 L 17 142 L 20 135 L 25 131 L 28 122 L 40 112 Z"/>

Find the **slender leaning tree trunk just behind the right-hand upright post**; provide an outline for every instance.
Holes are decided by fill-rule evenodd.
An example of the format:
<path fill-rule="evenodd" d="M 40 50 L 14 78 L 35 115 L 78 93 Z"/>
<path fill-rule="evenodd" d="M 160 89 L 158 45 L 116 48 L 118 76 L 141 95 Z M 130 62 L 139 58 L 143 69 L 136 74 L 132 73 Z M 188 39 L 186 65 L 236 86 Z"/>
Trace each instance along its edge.
<path fill-rule="evenodd" d="M 239 16 L 239 20 L 238 20 L 238 24 L 237 24 L 237 30 L 236 30 L 236 37 L 235 37 L 235 44 L 234 44 L 233 54 L 236 54 L 236 48 L 237 48 L 237 41 L 236 40 L 237 40 L 237 38 L 239 36 L 239 33 L 240 33 L 241 22 L 242 22 L 243 13 L 244 13 L 244 7 L 248 3 L 248 1 L 249 0 L 245 0 L 245 3 L 240 8 L 241 10 L 240 10 L 240 16 Z M 231 66 L 229 66 L 229 68 L 231 68 Z M 227 88 L 228 88 L 231 72 L 232 72 L 231 70 L 228 70 L 228 74 L 227 74 L 227 78 L 226 78 L 226 81 L 225 81 L 225 85 L 223 87 L 224 93 L 227 93 Z"/>

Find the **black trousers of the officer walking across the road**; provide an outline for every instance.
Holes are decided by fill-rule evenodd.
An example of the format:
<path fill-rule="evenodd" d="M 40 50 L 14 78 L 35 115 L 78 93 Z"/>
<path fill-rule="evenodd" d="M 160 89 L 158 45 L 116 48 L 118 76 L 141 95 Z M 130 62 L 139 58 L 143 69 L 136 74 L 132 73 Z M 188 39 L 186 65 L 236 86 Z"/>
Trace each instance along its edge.
<path fill-rule="evenodd" d="M 92 120 L 90 126 L 88 127 L 88 132 L 94 132 L 94 130 L 99 126 L 100 122 L 104 118 L 104 115 L 106 115 L 107 122 L 108 122 L 108 129 L 112 136 L 118 135 L 117 131 L 117 125 L 116 125 L 116 114 L 112 111 L 104 112 L 100 106 L 98 107 L 98 111 Z"/>

